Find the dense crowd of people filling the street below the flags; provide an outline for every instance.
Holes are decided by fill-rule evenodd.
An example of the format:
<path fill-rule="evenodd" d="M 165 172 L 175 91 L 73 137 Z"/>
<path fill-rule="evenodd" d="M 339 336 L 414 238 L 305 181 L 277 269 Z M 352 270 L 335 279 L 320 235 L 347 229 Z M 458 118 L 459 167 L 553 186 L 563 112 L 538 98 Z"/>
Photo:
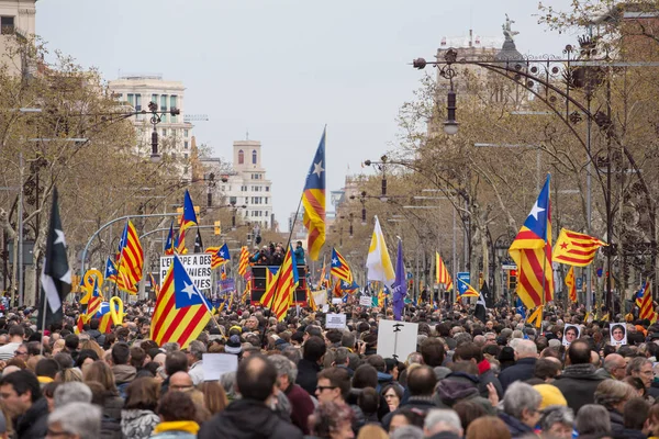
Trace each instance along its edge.
<path fill-rule="evenodd" d="M 236 304 L 181 348 L 149 339 L 150 306 L 109 334 L 98 319 L 75 334 L 76 305 L 43 335 L 30 308 L 0 318 L 0 437 L 659 437 L 659 324 L 633 315 L 616 316 L 617 345 L 576 306 L 548 307 L 540 328 L 506 306 L 484 323 L 410 307 L 416 347 L 394 359 L 378 354 L 389 309 L 332 305 L 346 327 L 327 329 L 323 313 Z M 204 353 L 237 370 L 206 380 Z"/>

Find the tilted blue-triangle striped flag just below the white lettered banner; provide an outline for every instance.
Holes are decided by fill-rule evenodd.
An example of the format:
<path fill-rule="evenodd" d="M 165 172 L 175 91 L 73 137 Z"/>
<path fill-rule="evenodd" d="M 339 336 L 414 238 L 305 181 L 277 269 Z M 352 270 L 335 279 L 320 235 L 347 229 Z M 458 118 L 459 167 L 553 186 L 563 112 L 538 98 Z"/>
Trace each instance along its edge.
<path fill-rule="evenodd" d="M 176 341 L 186 348 L 197 339 L 211 318 L 211 306 L 194 286 L 177 255 L 160 285 L 160 295 L 150 325 L 150 338 L 158 346 Z"/>

